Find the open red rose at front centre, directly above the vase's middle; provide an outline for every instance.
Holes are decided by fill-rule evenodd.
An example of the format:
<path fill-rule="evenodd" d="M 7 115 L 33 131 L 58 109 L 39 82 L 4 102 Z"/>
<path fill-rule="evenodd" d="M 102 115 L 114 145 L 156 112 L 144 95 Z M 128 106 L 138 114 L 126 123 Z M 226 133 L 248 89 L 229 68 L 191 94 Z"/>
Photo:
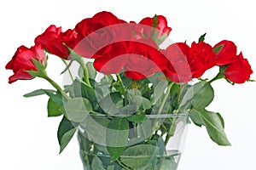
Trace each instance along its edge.
<path fill-rule="evenodd" d="M 158 50 L 157 44 L 150 38 L 130 42 L 125 64 L 125 76 L 140 80 L 163 70 L 166 58 Z"/>

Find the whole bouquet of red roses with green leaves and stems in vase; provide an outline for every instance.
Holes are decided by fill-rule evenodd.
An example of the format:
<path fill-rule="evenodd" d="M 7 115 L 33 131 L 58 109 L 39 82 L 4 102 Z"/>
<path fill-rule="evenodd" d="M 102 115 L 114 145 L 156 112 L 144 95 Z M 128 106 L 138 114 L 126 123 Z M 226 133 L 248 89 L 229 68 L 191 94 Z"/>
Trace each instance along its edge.
<path fill-rule="evenodd" d="M 206 34 L 198 42 L 163 48 L 171 31 L 162 15 L 136 23 L 109 12 L 81 20 L 73 30 L 52 25 L 34 46 L 17 49 L 6 65 L 14 71 L 9 83 L 40 77 L 52 84 L 55 90 L 41 88 L 25 97 L 49 96 L 48 116 L 63 117 L 61 151 L 78 132 L 84 169 L 174 170 L 177 155 L 167 145 L 181 122 L 204 126 L 214 142 L 230 145 L 223 118 L 207 111 L 214 98 L 211 83 L 247 82 L 253 71 L 234 42 L 212 46 Z M 63 88 L 46 71 L 55 56 L 71 81 Z M 219 68 L 217 76 L 202 78 L 213 67 Z"/>

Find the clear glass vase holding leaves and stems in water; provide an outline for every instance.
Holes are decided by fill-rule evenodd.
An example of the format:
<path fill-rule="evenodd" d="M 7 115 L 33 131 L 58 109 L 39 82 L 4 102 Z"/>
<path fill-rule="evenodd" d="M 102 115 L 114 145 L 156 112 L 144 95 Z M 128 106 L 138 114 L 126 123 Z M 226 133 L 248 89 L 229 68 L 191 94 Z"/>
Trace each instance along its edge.
<path fill-rule="evenodd" d="M 188 114 L 88 116 L 78 134 L 84 170 L 176 170 L 187 124 Z"/>

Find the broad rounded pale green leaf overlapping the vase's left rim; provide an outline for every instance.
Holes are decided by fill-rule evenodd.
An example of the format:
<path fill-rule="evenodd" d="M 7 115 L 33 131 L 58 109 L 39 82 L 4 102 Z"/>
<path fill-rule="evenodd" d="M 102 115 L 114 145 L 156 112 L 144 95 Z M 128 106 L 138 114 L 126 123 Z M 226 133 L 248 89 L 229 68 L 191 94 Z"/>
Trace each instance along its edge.
<path fill-rule="evenodd" d="M 73 98 L 67 101 L 62 107 L 67 119 L 73 122 L 84 122 L 86 116 L 92 111 L 90 101 L 85 98 Z"/>

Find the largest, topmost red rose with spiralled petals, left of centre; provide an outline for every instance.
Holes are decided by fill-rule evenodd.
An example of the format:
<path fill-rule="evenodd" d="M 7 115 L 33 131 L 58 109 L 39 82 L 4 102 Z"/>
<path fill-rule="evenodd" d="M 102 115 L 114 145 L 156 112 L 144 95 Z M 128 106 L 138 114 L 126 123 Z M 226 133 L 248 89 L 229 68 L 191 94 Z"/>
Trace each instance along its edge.
<path fill-rule="evenodd" d="M 75 31 L 78 32 L 76 39 L 75 52 L 86 58 L 91 58 L 99 49 L 104 48 L 102 54 L 108 54 L 112 46 L 109 44 L 123 33 L 122 27 L 113 26 L 125 23 L 124 20 L 119 20 L 116 16 L 109 12 L 101 12 L 94 15 L 90 19 L 84 19 L 77 24 Z M 132 35 L 132 34 L 131 34 Z"/>

